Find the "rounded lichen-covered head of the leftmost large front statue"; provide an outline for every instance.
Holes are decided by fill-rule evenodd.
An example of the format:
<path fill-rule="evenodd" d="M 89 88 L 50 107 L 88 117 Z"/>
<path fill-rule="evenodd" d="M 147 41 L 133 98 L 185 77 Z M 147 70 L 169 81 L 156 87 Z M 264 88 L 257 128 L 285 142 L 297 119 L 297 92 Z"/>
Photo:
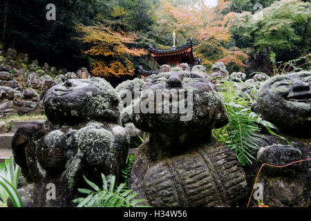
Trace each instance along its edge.
<path fill-rule="evenodd" d="M 68 79 L 46 93 L 44 110 L 55 124 L 86 120 L 117 122 L 120 97 L 104 79 Z"/>

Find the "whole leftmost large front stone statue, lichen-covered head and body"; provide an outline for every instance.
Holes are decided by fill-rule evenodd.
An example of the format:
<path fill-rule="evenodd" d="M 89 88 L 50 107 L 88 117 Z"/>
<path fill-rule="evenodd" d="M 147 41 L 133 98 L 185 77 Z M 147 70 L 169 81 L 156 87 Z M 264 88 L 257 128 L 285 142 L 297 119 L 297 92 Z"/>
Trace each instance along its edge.
<path fill-rule="evenodd" d="M 100 173 L 113 174 L 118 182 L 129 151 L 120 108 L 120 97 L 104 79 L 68 79 L 48 90 L 48 121 L 21 126 L 12 141 L 16 163 L 35 183 L 33 206 L 73 206 L 83 175 L 96 180 Z M 47 197 L 53 185 L 54 199 Z"/>

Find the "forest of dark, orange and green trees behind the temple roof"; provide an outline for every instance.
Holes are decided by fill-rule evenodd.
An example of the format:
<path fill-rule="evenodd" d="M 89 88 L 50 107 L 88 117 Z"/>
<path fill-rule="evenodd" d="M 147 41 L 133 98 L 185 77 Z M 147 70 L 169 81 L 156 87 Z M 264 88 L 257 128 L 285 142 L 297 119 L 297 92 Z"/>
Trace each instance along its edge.
<path fill-rule="evenodd" d="M 194 39 L 194 55 L 230 73 L 275 74 L 275 64 L 303 58 L 310 65 L 310 1 L 219 0 L 1 0 L 0 42 L 39 64 L 76 71 L 86 67 L 109 81 L 156 69 L 148 53 Z M 46 19 L 48 3 L 56 19 Z"/>

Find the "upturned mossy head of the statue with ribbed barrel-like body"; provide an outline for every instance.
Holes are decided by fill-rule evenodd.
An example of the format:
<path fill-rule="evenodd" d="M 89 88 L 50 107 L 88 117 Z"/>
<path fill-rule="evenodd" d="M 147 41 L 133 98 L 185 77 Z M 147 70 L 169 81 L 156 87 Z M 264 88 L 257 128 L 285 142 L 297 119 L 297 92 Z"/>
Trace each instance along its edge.
<path fill-rule="evenodd" d="M 157 100 L 157 97 L 160 99 Z M 169 104 L 165 104 L 164 99 L 170 100 Z M 153 113 L 140 111 L 134 113 L 133 117 L 135 126 L 142 131 L 181 135 L 209 131 L 211 128 L 225 126 L 228 122 L 227 113 L 216 95 L 214 85 L 198 73 L 162 73 L 147 79 L 140 104 L 148 100 L 151 100 L 148 104 L 153 106 Z M 182 102 L 185 102 L 186 107 Z M 173 108 L 177 106 L 186 110 L 178 108 L 178 113 L 173 112 Z M 169 113 L 164 113 L 165 108 Z"/>

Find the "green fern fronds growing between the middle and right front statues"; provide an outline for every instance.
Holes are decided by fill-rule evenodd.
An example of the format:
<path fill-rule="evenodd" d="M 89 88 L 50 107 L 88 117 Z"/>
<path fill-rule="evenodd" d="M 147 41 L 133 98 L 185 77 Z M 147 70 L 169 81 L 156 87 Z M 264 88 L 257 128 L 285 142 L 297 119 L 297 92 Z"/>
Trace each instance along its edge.
<path fill-rule="evenodd" d="M 254 87 L 253 90 L 256 96 L 256 88 Z M 274 133 L 278 131 L 276 126 L 252 112 L 254 97 L 241 91 L 241 83 L 225 81 L 218 85 L 218 91 L 229 115 L 229 124 L 214 129 L 213 134 L 236 153 L 238 161 L 243 166 L 252 164 L 256 160 L 254 153 L 259 146 L 256 143 L 258 138 L 255 133 L 261 131 L 261 127 L 266 128 L 272 135 L 285 139 Z"/>

